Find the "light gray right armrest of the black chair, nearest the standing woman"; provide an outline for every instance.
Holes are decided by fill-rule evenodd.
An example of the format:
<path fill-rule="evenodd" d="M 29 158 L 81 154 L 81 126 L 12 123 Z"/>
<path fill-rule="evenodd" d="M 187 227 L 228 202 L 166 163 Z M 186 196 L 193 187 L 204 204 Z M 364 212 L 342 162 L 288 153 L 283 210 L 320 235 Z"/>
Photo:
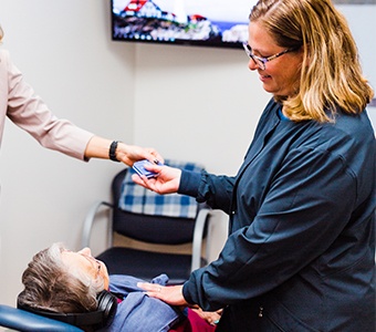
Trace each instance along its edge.
<path fill-rule="evenodd" d="M 203 240 L 205 226 L 211 216 L 211 210 L 202 208 L 199 210 L 196 217 L 195 231 L 194 231 L 194 243 L 192 243 L 192 264 L 191 271 L 197 270 L 201 267 L 201 249 Z"/>

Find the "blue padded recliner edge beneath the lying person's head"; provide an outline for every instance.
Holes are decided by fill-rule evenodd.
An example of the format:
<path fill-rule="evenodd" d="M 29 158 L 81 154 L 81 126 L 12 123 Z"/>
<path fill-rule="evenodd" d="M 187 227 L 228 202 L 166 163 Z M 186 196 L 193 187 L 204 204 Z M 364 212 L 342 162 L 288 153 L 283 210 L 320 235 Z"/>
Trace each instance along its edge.
<path fill-rule="evenodd" d="M 13 331 L 83 332 L 77 326 L 4 304 L 0 304 L 0 326 L 9 328 Z"/>

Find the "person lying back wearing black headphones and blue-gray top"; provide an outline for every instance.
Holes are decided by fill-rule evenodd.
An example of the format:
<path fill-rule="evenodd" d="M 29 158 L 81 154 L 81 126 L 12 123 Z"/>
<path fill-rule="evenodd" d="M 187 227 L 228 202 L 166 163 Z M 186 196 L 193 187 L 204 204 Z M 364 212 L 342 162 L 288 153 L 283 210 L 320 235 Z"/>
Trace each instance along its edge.
<path fill-rule="evenodd" d="M 145 280 L 108 276 L 105 263 L 90 248 L 74 252 L 53 243 L 38 252 L 24 270 L 18 307 L 84 331 L 188 332 L 195 326 L 200 332 L 215 331 L 219 312 L 171 307 L 147 297 L 137 282 Z M 168 276 L 150 282 L 166 286 Z"/>

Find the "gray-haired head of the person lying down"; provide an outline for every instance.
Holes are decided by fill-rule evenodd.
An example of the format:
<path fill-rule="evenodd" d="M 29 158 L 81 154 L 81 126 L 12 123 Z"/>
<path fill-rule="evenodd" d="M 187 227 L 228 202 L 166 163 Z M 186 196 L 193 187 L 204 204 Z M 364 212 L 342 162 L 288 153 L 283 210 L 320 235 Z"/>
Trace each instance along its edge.
<path fill-rule="evenodd" d="M 97 294 L 108 288 L 108 274 L 105 266 L 91 252 L 83 253 L 84 250 L 90 252 L 88 248 L 72 252 L 62 243 L 54 243 L 38 252 L 22 274 L 24 291 L 19 295 L 19 303 L 53 312 L 95 311 Z M 77 264 L 67 261 L 70 252 L 82 255 L 87 268 L 77 268 Z"/>

